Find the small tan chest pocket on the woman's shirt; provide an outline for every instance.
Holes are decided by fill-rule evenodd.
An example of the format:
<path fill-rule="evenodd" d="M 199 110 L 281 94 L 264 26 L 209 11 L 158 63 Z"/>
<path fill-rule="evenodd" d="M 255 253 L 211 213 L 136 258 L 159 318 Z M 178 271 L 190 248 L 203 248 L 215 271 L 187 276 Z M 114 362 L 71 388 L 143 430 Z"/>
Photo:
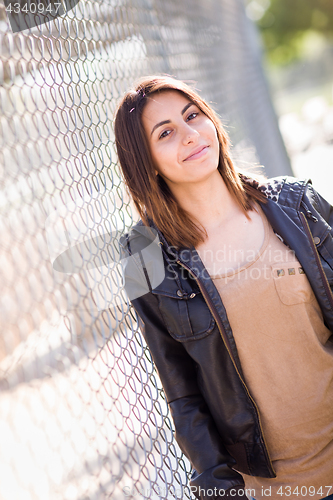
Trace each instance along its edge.
<path fill-rule="evenodd" d="M 283 304 L 293 306 L 311 302 L 315 298 L 308 278 L 298 261 L 274 264 L 272 276 Z"/>

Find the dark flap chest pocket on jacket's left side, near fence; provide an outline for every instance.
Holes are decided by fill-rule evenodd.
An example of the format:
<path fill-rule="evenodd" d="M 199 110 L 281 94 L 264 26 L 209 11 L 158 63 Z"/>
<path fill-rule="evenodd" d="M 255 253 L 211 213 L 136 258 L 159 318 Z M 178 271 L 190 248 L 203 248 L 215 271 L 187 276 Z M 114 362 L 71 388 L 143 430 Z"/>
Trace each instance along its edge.
<path fill-rule="evenodd" d="M 152 291 L 158 296 L 159 309 L 170 335 L 180 342 L 197 340 L 209 335 L 215 320 L 204 301 L 201 292 L 177 294 Z"/>

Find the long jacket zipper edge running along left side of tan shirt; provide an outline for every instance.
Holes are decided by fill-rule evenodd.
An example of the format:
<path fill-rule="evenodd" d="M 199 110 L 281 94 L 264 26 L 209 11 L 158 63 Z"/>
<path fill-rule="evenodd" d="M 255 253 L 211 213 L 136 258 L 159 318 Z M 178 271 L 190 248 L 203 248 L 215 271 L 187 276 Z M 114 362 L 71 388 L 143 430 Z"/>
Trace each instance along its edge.
<path fill-rule="evenodd" d="M 230 348 L 229 340 L 228 340 L 228 338 L 227 338 L 227 336 L 226 336 L 226 334 L 225 334 L 225 330 L 224 330 L 223 325 L 221 324 L 220 318 L 219 318 L 218 314 L 217 314 L 217 313 L 216 313 L 216 311 L 215 311 L 215 306 L 214 306 L 214 304 L 212 304 L 211 299 L 210 299 L 210 297 L 209 297 L 209 294 L 207 294 L 207 292 L 206 292 L 205 288 L 204 288 L 203 286 L 201 286 L 199 278 L 198 278 L 198 277 L 197 277 L 197 276 L 193 273 L 193 271 L 192 271 L 189 267 L 187 267 L 185 264 L 183 264 L 180 260 L 177 260 L 177 264 L 179 264 L 180 266 L 184 267 L 184 268 L 185 268 L 185 269 L 186 269 L 186 270 L 187 270 L 187 271 L 188 271 L 188 272 L 189 272 L 189 273 L 190 273 L 190 274 L 194 277 L 194 279 L 195 279 L 195 280 L 196 280 L 196 282 L 198 283 L 198 286 L 199 286 L 200 291 L 201 291 L 201 293 L 202 293 L 202 295 L 203 295 L 203 297 L 204 297 L 204 299 L 205 299 L 205 301 L 206 301 L 206 304 L 208 305 L 209 310 L 210 310 L 210 312 L 211 312 L 211 314 L 212 314 L 213 318 L 215 319 L 215 321 L 216 321 L 216 323 L 217 323 L 217 326 L 218 326 L 219 331 L 220 331 L 220 335 L 221 335 L 222 340 L 223 340 L 223 342 L 224 342 L 224 345 L 225 345 L 225 347 L 226 347 L 226 349 L 227 349 L 227 351 L 228 351 L 228 353 L 229 353 L 229 356 L 230 356 L 230 358 L 231 358 L 231 361 L 233 362 L 233 365 L 234 365 L 234 367 L 235 367 L 235 370 L 236 370 L 236 372 L 237 372 L 237 375 L 238 375 L 238 377 L 239 377 L 240 381 L 242 382 L 242 384 L 243 384 L 243 386 L 244 386 L 244 388 L 245 388 L 245 390 L 246 390 L 246 393 L 247 393 L 247 395 L 248 395 L 248 397 L 249 397 L 250 401 L 252 402 L 253 406 L 254 406 L 254 407 L 255 407 L 255 409 L 256 409 L 257 416 L 258 416 L 258 421 L 259 421 L 259 427 L 260 427 L 260 431 L 261 431 L 261 436 L 262 436 L 262 439 L 263 439 L 264 452 L 265 452 L 265 455 L 266 455 L 266 459 L 267 459 L 267 461 L 269 462 L 269 467 L 270 467 L 271 472 L 272 472 L 272 473 L 274 474 L 274 476 L 276 477 L 276 473 L 275 473 L 275 470 L 274 470 L 274 468 L 273 468 L 272 460 L 271 460 L 271 458 L 270 458 L 270 456 L 269 456 L 269 452 L 268 452 L 268 448 L 267 448 L 267 443 L 266 443 L 265 436 L 264 436 L 264 432 L 263 432 L 263 428 L 262 428 L 262 425 L 261 425 L 260 414 L 259 414 L 259 408 L 258 408 L 258 406 L 256 405 L 256 402 L 254 401 L 254 399 L 252 398 L 252 396 L 251 396 L 251 394 L 250 394 L 250 391 L 248 390 L 247 385 L 246 385 L 246 383 L 245 383 L 245 381 L 244 381 L 243 377 L 242 377 L 242 376 L 241 376 L 241 374 L 239 373 L 239 370 L 238 370 L 238 368 L 237 368 L 236 362 L 235 362 L 235 360 L 234 360 L 234 358 L 233 358 L 233 355 L 232 355 L 232 352 L 231 352 L 231 348 Z"/>

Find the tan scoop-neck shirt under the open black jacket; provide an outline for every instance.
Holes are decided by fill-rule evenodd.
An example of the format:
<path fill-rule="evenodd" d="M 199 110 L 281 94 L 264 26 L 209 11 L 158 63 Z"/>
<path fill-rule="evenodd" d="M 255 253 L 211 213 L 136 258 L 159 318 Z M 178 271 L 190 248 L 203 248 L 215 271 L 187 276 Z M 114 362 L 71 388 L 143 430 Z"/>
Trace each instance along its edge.
<path fill-rule="evenodd" d="M 259 252 L 212 276 L 277 474 L 243 477 L 256 500 L 318 500 L 333 493 L 331 333 L 294 252 L 258 210 L 265 228 Z"/>

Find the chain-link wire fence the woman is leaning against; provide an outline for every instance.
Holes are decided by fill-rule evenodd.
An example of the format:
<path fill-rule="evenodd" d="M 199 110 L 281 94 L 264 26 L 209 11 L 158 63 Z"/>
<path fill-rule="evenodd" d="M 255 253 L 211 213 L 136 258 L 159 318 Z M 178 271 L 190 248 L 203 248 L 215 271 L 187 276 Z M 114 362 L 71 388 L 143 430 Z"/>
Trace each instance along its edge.
<path fill-rule="evenodd" d="M 193 80 L 239 160 L 290 173 L 255 32 L 240 0 L 81 0 L 18 33 L 0 7 L 0 498 L 191 498 L 106 244 L 136 219 L 112 118 L 139 76 Z"/>

